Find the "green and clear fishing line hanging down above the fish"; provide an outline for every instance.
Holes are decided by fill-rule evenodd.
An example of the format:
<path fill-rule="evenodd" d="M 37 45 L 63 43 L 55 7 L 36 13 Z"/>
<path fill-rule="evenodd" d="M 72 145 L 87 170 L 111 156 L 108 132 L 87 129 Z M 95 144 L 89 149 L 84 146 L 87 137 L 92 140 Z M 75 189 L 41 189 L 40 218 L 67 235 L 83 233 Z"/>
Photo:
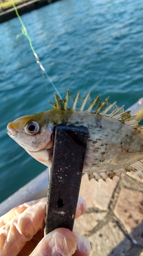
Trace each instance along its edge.
<path fill-rule="evenodd" d="M 59 95 L 59 97 L 62 99 L 62 97 L 61 97 L 61 95 L 60 95 L 58 89 L 56 89 L 56 87 L 54 86 L 52 80 L 50 79 L 49 75 L 47 74 L 45 68 L 43 67 L 43 65 L 42 65 L 42 63 L 41 63 L 41 61 L 40 61 L 40 59 L 39 59 L 39 57 L 38 57 L 38 54 L 37 54 L 36 51 L 34 50 L 34 47 L 33 47 L 33 45 L 32 45 L 31 37 L 30 37 L 30 35 L 28 35 L 28 33 L 27 33 L 27 30 L 26 30 L 26 28 L 25 28 L 25 26 L 24 26 L 24 23 L 22 22 L 22 19 L 21 19 L 20 15 L 19 15 L 19 13 L 18 13 L 18 10 L 17 10 L 17 8 L 16 8 L 16 6 L 15 6 L 15 4 L 14 4 L 14 1 L 11 0 L 11 3 L 12 3 L 12 5 L 13 5 L 13 7 L 14 7 L 14 9 L 15 9 L 15 12 L 16 12 L 16 15 L 17 15 L 17 17 L 19 18 L 19 21 L 20 21 L 20 23 L 21 23 L 21 25 L 22 25 L 22 27 L 21 27 L 22 34 L 23 34 L 23 35 L 28 39 L 28 41 L 30 42 L 30 47 L 31 47 L 31 49 L 32 49 L 32 51 L 33 51 L 33 54 L 34 54 L 35 58 L 36 58 L 36 62 L 39 64 L 40 69 L 44 72 L 44 74 L 45 74 L 46 77 L 48 78 L 49 82 L 51 83 L 51 85 L 52 85 L 52 87 L 54 88 L 54 90 L 56 91 L 56 93 L 57 93 L 57 94 Z M 20 34 L 20 35 L 21 35 L 21 34 Z M 20 35 L 18 35 L 17 37 L 19 37 Z"/>

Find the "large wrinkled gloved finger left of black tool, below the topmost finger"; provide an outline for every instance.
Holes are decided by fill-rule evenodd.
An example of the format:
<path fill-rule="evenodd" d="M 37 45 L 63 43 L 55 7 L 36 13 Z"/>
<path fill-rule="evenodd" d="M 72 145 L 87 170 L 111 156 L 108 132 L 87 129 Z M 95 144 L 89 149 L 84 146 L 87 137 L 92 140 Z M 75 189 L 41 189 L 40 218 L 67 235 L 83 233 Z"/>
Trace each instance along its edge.
<path fill-rule="evenodd" d="M 45 202 L 41 200 L 0 228 L 0 255 L 15 256 L 44 228 Z"/>

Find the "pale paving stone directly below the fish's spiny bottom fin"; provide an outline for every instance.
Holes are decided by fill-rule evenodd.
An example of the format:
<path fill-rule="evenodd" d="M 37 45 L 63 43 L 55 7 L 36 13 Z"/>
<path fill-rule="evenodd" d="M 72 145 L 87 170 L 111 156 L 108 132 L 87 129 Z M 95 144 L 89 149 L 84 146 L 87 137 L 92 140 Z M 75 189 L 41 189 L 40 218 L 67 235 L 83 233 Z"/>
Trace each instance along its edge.
<path fill-rule="evenodd" d="M 119 182 L 119 177 L 109 178 L 104 182 L 99 182 L 92 179 L 89 181 L 87 175 L 82 176 L 79 195 L 84 198 L 89 208 L 98 208 L 100 210 L 107 210 L 112 196 L 113 190 Z"/>

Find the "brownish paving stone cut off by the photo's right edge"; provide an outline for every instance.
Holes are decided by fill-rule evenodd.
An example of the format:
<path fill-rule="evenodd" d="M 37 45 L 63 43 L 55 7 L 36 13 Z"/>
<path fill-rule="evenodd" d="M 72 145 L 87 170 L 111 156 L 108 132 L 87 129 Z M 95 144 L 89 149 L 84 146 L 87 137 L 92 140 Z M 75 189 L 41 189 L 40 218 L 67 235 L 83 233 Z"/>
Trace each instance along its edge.
<path fill-rule="evenodd" d="M 143 193 L 121 188 L 114 214 L 135 244 L 143 245 Z"/>

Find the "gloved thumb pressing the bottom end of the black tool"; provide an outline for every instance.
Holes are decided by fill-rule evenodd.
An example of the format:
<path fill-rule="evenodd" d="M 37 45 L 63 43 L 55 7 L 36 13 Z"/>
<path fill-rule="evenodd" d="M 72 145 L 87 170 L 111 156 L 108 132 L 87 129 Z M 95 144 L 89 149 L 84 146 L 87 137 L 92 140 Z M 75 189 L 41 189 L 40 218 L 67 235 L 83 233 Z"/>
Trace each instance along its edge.
<path fill-rule="evenodd" d="M 57 228 L 47 234 L 30 256 L 71 256 L 77 246 L 75 234 L 67 228 Z"/>

